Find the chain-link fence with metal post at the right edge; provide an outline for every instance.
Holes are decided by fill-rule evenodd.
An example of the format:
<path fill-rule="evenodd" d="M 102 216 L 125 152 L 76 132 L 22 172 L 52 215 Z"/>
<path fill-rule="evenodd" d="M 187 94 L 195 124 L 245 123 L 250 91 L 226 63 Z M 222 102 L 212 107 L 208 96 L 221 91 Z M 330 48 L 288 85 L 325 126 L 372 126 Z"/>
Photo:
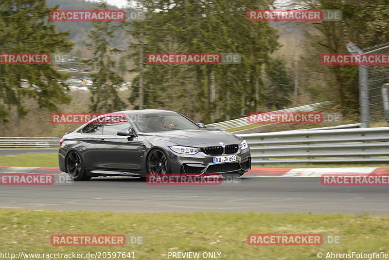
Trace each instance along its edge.
<path fill-rule="evenodd" d="M 364 49 L 359 49 L 354 43 L 349 43 L 347 47 L 351 53 L 389 53 L 389 42 Z M 388 97 L 386 83 L 389 83 L 389 65 L 359 65 L 361 127 L 369 127 L 373 121 L 388 119 L 388 102 L 384 102 Z"/>

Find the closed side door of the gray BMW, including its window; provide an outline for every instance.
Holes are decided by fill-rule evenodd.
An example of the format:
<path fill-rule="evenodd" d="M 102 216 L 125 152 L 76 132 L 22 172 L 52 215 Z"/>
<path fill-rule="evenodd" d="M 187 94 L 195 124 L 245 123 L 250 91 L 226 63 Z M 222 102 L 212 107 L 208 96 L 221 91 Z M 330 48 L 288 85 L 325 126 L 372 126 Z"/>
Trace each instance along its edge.
<path fill-rule="evenodd" d="M 137 171 L 139 169 L 138 137 L 116 134 L 118 130 L 130 128 L 131 124 L 127 119 L 121 120 L 120 123 L 117 123 L 118 120 L 115 119 L 105 119 L 104 121 L 103 134 L 96 143 L 96 153 L 100 161 L 98 168 Z"/>

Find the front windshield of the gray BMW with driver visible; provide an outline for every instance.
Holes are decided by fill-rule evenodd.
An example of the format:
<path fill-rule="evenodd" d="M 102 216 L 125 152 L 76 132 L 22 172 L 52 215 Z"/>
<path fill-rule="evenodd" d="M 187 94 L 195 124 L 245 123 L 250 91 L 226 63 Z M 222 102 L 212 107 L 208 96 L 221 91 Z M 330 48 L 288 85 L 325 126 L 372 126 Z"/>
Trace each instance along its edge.
<path fill-rule="evenodd" d="M 135 125 L 141 132 L 158 132 L 158 131 L 170 131 L 170 130 L 182 130 L 182 129 L 199 129 L 192 121 L 186 117 L 174 113 L 148 113 L 144 114 L 140 120 L 134 120 Z"/>

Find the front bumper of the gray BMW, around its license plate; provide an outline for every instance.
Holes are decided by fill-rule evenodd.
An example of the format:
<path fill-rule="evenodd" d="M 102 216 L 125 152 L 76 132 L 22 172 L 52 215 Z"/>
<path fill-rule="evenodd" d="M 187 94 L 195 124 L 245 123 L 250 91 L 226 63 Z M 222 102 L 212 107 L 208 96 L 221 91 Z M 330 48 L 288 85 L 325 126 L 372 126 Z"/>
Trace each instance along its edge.
<path fill-rule="evenodd" d="M 213 157 L 216 155 L 208 155 L 203 151 L 196 154 L 178 154 L 170 148 L 166 148 L 171 173 L 187 173 L 187 174 L 219 174 L 228 172 L 245 173 L 251 168 L 250 149 L 239 149 L 238 152 L 227 155 L 236 155 L 235 162 L 229 163 L 213 163 Z"/>

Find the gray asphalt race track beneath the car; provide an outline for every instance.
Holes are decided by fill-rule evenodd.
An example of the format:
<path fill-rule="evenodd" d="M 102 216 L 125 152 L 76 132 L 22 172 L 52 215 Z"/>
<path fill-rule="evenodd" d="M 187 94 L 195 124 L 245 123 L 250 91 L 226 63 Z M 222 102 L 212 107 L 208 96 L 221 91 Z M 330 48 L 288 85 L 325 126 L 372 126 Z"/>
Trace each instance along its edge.
<path fill-rule="evenodd" d="M 0 170 L 1 172 L 1 170 Z M 67 185 L 0 186 L 0 207 L 113 212 L 347 212 L 389 215 L 388 186 L 322 186 L 318 177 L 242 177 L 217 186 L 154 186 L 99 177 Z"/>

